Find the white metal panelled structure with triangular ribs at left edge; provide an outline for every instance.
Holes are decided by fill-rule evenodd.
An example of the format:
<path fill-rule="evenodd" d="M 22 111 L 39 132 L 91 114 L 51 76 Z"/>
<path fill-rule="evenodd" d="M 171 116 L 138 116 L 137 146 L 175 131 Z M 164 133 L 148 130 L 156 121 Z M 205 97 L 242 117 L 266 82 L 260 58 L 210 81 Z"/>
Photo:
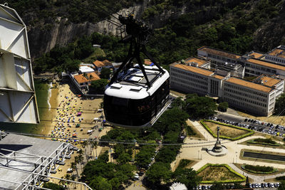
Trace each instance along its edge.
<path fill-rule="evenodd" d="M 38 123 L 26 25 L 0 4 L 0 122 Z"/>

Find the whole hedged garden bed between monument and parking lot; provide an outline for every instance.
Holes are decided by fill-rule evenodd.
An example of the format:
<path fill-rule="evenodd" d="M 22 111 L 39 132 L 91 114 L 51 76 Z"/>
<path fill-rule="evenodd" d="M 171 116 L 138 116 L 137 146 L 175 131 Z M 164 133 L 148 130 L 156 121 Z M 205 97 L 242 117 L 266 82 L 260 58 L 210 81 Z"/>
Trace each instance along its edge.
<path fill-rule="evenodd" d="M 208 130 L 209 133 L 212 134 L 213 137 L 217 137 L 217 126 L 219 126 L 219 137 L 222 139 L 237 140 L 254 134 L 253 130 L 237 127 L 234 125 L 227 125 L 212 120 L 202 120 L 201 124 L 206 128 L 206 130 Z"/>

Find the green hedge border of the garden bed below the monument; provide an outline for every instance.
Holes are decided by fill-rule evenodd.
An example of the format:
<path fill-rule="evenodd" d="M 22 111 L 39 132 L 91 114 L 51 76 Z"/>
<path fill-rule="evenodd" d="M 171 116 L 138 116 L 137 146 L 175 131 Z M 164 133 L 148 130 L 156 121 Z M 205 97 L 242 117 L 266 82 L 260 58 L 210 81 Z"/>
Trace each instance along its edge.
<path fill-rule="evenodd" d="M 201 171 L 206 169 L 207 167 L 226 167 L 231 171 L 232 173 L 236 174 L 237 176 L 240 176 L 242 179 L 233 179 L 233 180 L 222 180 L 222 181 L 201 181 L 200 184 L 214 184 L 214 182 L 217 183 L 237 183 L 237 182 L 244 182 L 247 178 L 246 176 L 239 174 L 237 171 L 234 171 L 231 167 L 229 167 L 228 164 L 205 164 L 203 167 L 198 169 L 196 172 L 199 174 Z"/>

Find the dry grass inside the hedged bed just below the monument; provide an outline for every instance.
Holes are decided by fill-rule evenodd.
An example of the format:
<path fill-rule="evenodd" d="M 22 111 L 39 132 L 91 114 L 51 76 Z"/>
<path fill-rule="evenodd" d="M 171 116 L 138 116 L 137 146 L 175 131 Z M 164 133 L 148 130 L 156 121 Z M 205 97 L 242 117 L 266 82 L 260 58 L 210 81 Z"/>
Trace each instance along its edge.
<path fill-rule="evenodd" d="M 225 180 L 239 180 L 241 176 L 232 173 L 227 167 L 207 167 L 199 172 L 198 176 L 202 177 L 202 181 L 225 181 Z"/>

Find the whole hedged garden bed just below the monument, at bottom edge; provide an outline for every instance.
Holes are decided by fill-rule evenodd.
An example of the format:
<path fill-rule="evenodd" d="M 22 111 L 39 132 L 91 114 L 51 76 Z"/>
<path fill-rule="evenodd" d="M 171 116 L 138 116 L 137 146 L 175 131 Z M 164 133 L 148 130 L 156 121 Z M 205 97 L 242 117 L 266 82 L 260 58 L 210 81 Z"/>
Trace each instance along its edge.
<path fill-rule="evenodd" d="M 246 177 L 237 173 L 227 164 L 206 164 L 197 171 L 197 175 L 202 177 L 201 184 L 243 182 Z"/>

